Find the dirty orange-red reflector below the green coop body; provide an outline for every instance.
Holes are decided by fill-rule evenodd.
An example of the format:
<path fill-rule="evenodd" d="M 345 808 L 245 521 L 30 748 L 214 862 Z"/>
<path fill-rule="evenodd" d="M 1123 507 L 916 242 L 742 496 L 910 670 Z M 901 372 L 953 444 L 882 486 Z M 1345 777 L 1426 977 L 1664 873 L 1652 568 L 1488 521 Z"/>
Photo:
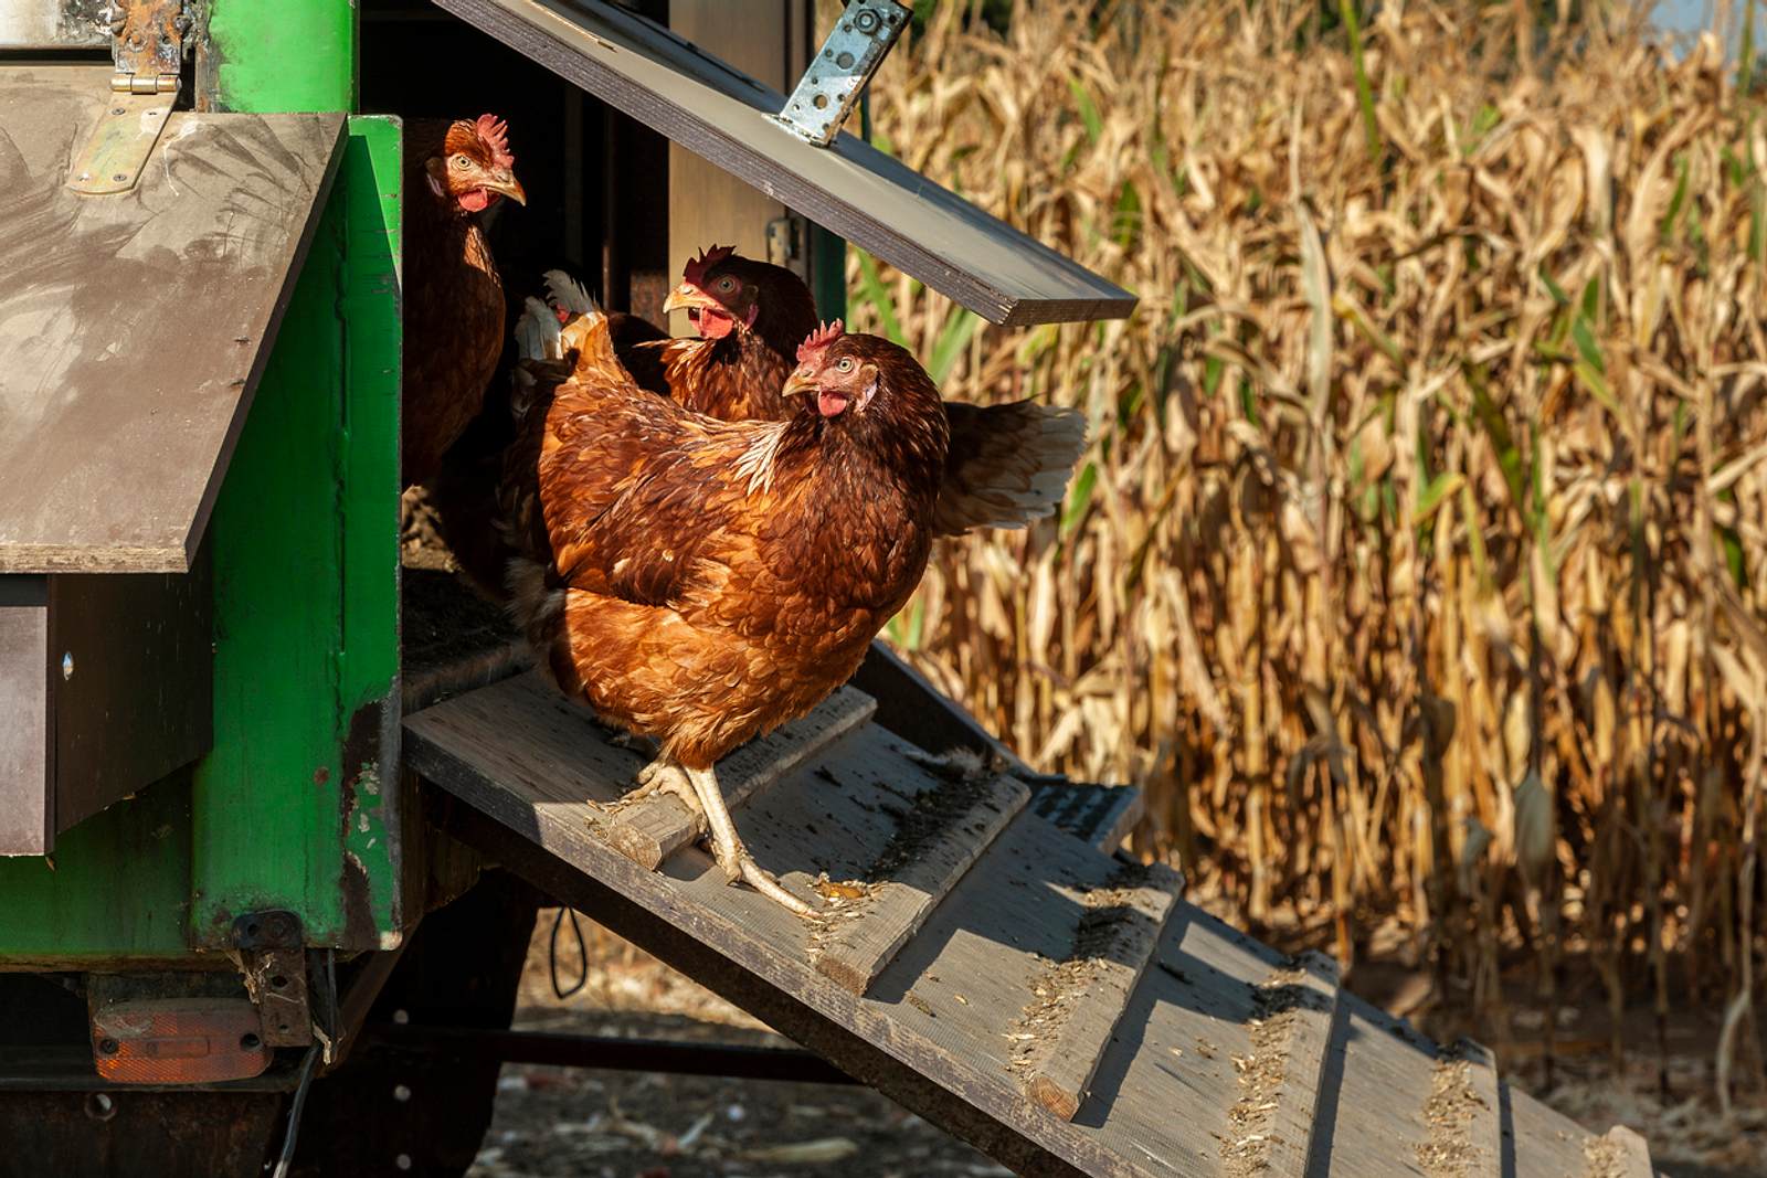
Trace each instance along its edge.
<path fill-rule="evenodd" d="M 117 1084 L 212 1084 L 270 1067 L 258 1008 L 239 998 L 145 998 L 92 1016 L 92 1058 Z"/>

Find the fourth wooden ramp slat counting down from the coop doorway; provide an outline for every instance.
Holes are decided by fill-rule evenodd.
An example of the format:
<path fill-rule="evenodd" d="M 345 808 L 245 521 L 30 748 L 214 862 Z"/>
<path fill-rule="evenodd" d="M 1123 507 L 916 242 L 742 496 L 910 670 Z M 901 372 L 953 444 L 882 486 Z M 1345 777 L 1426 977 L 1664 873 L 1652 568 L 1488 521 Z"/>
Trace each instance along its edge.
<path fill-rule="evenodd" d="M 1223 1155 L 1248 1173 L 1302 1178 L 1338 1014 L 1338 963 L 1306 952 L 1258 989 L 1255 1054 L 1239 1070 L 1240 1097 L 1228 1113 Z"/>

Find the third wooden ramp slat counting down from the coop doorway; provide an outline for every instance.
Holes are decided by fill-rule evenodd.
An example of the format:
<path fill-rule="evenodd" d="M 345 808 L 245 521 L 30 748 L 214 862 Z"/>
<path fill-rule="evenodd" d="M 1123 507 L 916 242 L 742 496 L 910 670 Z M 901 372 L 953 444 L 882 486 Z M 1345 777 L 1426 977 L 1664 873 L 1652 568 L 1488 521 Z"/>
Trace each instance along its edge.
<path fill-rule="evenodd" d="M 1018 1033 L 1032 1038 L 1021 1040 L 1028 1049 L 1014 1063 L 1027 1095 L 1064 1121 L 1080 1111 L 1182 894 L 1184 876 L 1170 867 L 1124 864 L 1103 888 L 1085 895 L 1073 948 L 1032 985 L 1016 1023 Z"/>

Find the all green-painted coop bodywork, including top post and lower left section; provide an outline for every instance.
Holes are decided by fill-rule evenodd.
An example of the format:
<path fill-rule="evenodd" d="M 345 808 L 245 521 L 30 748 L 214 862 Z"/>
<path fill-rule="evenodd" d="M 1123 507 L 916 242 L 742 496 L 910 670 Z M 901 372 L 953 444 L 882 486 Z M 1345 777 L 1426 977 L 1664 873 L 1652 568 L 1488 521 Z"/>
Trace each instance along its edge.
<path fill-rule="evenodd" d="M 350 0 L 216 0 L 217 109 L 350 109 Z M 401 924 L 398 436 L 401 129 L 352 118 L 345 159 L 210 521 L 216 749 L 0 860 L 0 970 L 189 961 L 233 915 L 307 941 Z"/>

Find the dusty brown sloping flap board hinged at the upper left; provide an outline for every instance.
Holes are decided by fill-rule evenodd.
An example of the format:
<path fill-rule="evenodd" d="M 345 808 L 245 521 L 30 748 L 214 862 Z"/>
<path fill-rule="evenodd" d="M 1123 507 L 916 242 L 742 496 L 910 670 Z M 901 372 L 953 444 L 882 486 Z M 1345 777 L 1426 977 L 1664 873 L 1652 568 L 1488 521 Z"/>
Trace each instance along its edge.
<path fill-rule="evenodd" d="M 67 164 L 108 67 L 0 67 L 0 572 L 186 572 L 345 117 L 171 115 L 133 193 Z"/>

